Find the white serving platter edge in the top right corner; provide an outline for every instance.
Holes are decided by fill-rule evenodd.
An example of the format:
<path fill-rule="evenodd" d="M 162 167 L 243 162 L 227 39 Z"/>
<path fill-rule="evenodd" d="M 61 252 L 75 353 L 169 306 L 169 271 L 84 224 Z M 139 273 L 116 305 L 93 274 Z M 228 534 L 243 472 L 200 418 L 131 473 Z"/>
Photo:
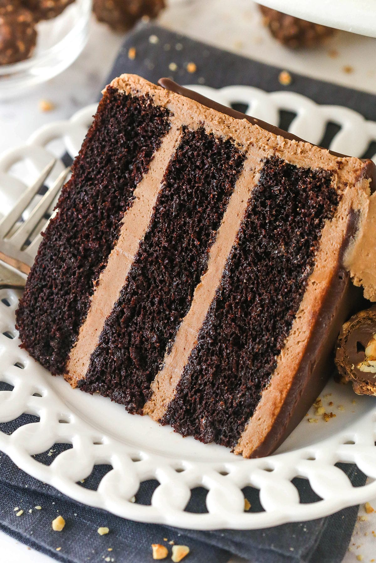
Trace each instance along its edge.
<path fill-rule="evenodd" d="M 316 24 L 376 37 L 375 0 L 262 0 L 260 3 Z"/>

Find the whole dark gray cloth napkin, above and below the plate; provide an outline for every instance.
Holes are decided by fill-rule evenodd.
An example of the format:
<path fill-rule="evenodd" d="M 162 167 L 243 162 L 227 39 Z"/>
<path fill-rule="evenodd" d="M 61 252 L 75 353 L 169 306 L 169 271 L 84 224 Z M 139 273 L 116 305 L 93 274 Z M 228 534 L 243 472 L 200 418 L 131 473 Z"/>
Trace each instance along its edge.
<path fill-rule="evenodd" d="M 155 37 L 149 40 L 152 35 L 157 37 L 157 41 Z M 134 59 L 129 58 L 131 47 L 136 50 Z M 176 72 L 171 72 L 171 62 L 176 65 Z M 187 72 L 188 62 L 196 64 L 195 73 Z M 175 67 L 172 65 L 172 68 Z M 152 82 L 157 82 L 162 76 L 171 76 L 181 84 L 205 83 L 212 87 L 249 84 L 273 91 L 282 88 L 278 82 L 280 70 L 168 32 L 158 26 L 141 26 L 127 36 L 114 68 L 109 73 L 108 82 L 118 74 L 127 72 L 140 74 Z M 360 111 L 368 119 L 375 119 L 375 96 L 370 94 L 295 74 L 289 90 L 303 93 L 319 103 L 348 106 Z M 292 117 L 287 112 L 282 113 L 280 125 L 286 128 Z M 336 131 L 334 124 L 328 127 L 322 141 L 324 146 Z M 375 152 L 373 146 L 367 151 L 370 155 Z M 0 390 L 5 389 L 10 390 L 10 386 L 0 382 Z M 0 430 L 11 434 L 18 426 L 34 419 L 30 415 L 23 415 L 17 421 L 0 425 Z M 50 464 L 67 447 L 69 446 L 57 444 L 53 446 L 52 455 L 45 452 L 36 458 L 41 463 Z M 353 485 L 364 485 L 365 475 L 356 466 L 339 464 L 339 467 Z M 109 469 L 109 466 L 96 466 L 82 486 L 95 489 Z M 307 480 L 294 479 L 293 482 L 302 502 L 319 500 Z M 155 487 L 155 481 L 141 485 L 136 502 L 148 504 Z M 244 494 L 251 503 L 251 511 L 262 510 L 256 489 L 248 487 L 244 489 Z M 351 507 L 314 521 L 252 531 L 202 532 L 141 524 L 72 501 L 51 486 L 18 470 L 4 454 L 0 458 L 0 495 L 0 529 L 20 542 L 67 563 L 101 562 L 108 557 L 113 563 L 145 563 L 152 561 L 152 543 L 165 544 L 171 551 L 171 546 L 163 538 L 191 548 L 191 553 L 184 560 L 187 563 L 222 563 L 232 555 L 245 557 L 255 563 L 340 563 L 350 542 L 357 516 L 357 507 Z M 187 510 L 204 512 L 205 495 L 204 489 L 195 489 Z M 36 510 L 35 506 L 42 508 Z M 21 516 L 16 516 L 15 507 L 24 511 Z M 51 529 L 51 521 L 57 513 L 67 522 L 61 532 Z M 96 531 L 100 526 L 107 526 L 110 533 L 100 536 Z M 56 551 L 59 547 L 61 549 Z M 108 551 L 108 548 L 112 548 L 112 551 Z"/>

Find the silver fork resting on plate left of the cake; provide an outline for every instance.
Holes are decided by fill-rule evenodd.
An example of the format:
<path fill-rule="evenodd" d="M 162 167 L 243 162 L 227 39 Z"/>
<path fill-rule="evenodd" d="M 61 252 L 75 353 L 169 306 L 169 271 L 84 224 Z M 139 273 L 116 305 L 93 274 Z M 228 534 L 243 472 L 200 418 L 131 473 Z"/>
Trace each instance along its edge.
<path fill-rule="evenodd" d="M 39 188 L 43 186 L 55 163 L 56 159 L 51 160 L 34 184 L 21 195 L 12 211 L 0 221 L 0 289 L 25 287 L 26 276 L 29 274 L 42 240 L 41 232 L 37 233 L 31 244 L 25 245 L 25 243 L 61 190 L 70 168 L 65 168 L 61 172 L 25 221 L 17 222 L 17 220 L 24 213 Z M 50 220 L 51 217 L 43 225 L 42 231 L 46 229 Z"/>

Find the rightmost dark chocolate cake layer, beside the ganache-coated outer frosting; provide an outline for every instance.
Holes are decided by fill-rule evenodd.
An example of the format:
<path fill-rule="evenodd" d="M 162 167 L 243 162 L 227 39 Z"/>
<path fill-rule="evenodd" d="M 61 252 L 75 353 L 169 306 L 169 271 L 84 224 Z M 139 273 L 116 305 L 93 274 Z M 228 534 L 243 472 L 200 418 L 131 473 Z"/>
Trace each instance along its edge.
<path fill-rule="evenodd" d="M 325 221 L 328 171 L 266 160 L 198 341 L 162 423 L 235 446 L 276 368 Z"/>

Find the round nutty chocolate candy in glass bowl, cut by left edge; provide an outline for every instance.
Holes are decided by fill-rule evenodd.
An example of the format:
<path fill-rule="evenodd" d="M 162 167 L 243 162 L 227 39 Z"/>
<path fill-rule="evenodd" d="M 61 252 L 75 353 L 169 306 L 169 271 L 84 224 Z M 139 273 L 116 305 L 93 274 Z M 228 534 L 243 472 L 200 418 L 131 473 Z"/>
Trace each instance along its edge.
<path fill-rule="evenodd" d="M 3 7 L 3 2 L 0 6 Z M 32 12 L 20 7 L 0 11 L 0 65 L 28 59 L 36 41 Z"/>

